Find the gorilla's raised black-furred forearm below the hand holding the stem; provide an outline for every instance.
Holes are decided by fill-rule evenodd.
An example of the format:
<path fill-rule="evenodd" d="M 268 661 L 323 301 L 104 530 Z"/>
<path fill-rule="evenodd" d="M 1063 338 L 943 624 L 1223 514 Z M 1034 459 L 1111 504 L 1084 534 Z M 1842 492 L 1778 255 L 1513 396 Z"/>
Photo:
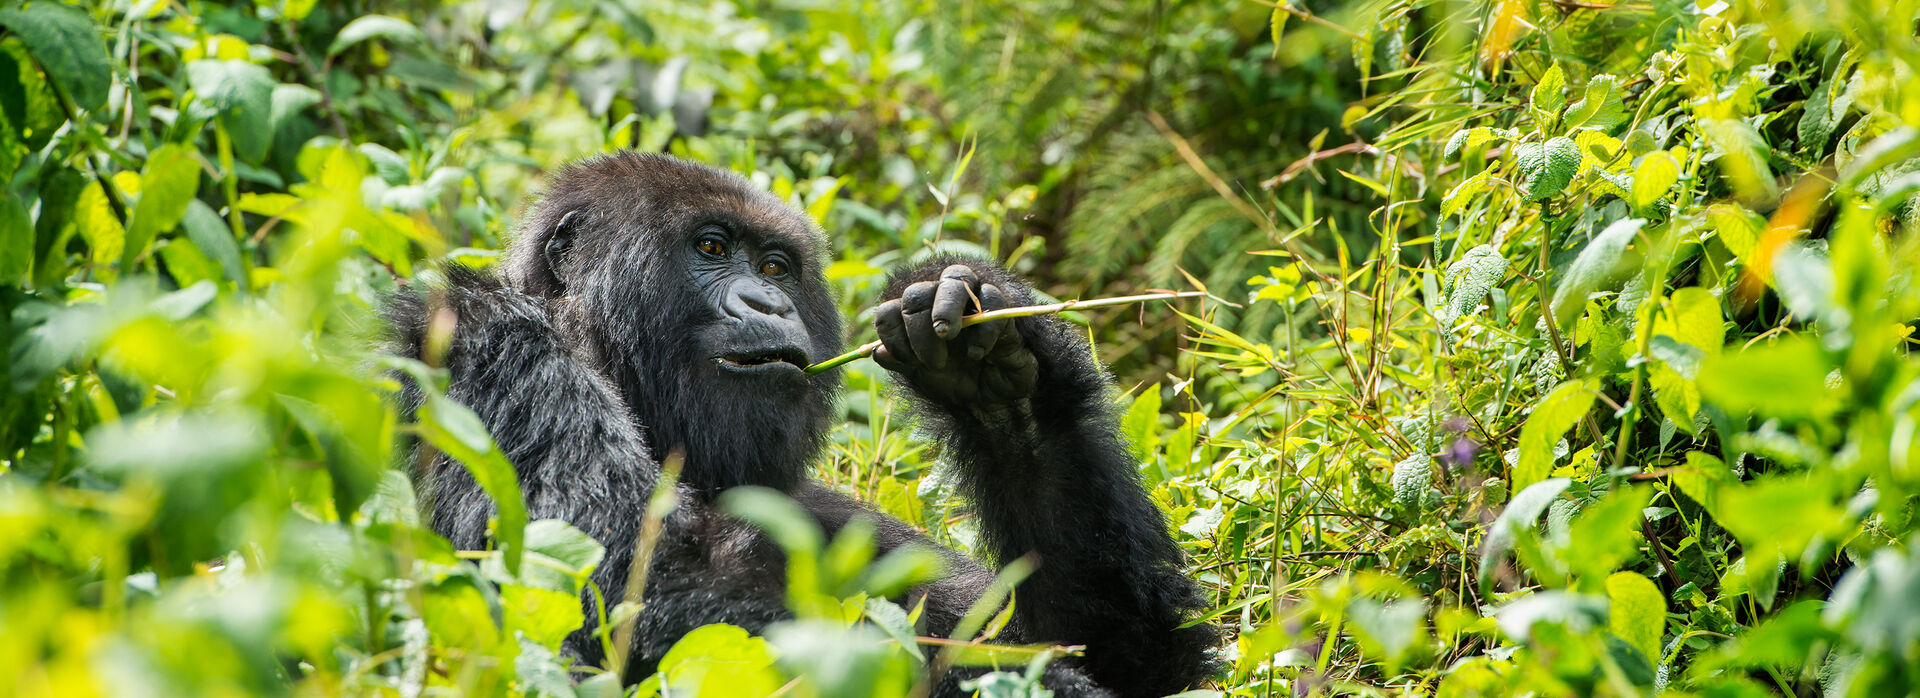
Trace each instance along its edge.
<path fill-rule="evenodd" d="M 941 265 L 904 274 L 939 274 Z M 968 261 L 983 282 L 1029 293 Z M 1002 405 L 922 401 L 998 562 L 1039 570 L 1018 591 L 1023 640 L 1087 644 L 1085 667 L 1125 694 L 1167 694 L 1210 671 L 1210 625 L 1181 629 L 1204 600 L 1117 433 L 1106 374 L 1056 318 L 1014 320 L 1039 361 L 1031 397 Z"/>

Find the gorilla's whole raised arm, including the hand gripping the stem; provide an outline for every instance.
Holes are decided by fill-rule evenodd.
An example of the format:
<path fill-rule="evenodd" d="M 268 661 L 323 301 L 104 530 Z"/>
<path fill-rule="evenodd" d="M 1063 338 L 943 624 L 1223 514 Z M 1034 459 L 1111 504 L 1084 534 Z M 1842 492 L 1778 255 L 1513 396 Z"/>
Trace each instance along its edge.
<path fill-rule="evenodd" d="M 1016 640 L 1085 644 L 1087 673 L 1125 694 L 1204 681 L 1215 631 L 1181 627 L 1204 602 L 1140 487 L 1087 341 L 1048 316 L 960 330 L 958 314 L 981 305 L 1031 303 L 1025 284 L 983 261 L 935 259 L 885 297 L 876 359 L 918 397 L 987 548 L 1002 564 L 1039 558 L 1016 593 Z"/>

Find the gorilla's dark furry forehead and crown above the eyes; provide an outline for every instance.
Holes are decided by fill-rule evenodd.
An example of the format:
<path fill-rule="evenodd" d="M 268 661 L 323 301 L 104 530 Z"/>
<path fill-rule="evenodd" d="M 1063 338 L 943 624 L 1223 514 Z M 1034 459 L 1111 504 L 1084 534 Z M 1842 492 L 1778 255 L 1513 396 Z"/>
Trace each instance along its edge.
<path fill-rule="evenodd" d="M 806 215 L 747 178 L 659 153 L 618 151 L 568 165 L 551 180 L 528 232 L 551 228 L 570 211 L 591 215 L 591 230 L 611 234 L 605 242 L 612 245 L 628 242 L 624 236 L 649 238 L 641 245 L 691 236 L 707 222 L 804 255 L 826 245 Z"/>

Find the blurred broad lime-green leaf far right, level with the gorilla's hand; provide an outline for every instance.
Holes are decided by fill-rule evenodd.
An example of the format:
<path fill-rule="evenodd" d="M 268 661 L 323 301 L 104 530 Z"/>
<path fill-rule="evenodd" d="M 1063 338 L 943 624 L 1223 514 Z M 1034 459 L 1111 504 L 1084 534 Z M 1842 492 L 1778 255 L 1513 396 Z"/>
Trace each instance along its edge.
<path fill-rule="evenodd" d="M 1816 339 L 1782 339 L 1707 359 L 1699 368 L 1699 393 L 1732 414 L 1824 418 L 1839 407 L 1826 384 L 1830 370 Z"/>

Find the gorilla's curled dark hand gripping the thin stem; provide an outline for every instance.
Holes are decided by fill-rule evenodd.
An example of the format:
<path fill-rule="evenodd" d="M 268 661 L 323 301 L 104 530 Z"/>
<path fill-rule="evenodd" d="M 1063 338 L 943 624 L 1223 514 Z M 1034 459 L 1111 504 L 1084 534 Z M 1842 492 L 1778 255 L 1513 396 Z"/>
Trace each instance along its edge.
<path fill-rule="evenodd" d="M 947 407 L 995 407 L 1033 395 L 1039 374 L 1018 320 L 970 328 L 960 318 L 1008 307 L 1010 290 L 948 265 L 937 280 L 912 282 L 874 311 L 874 361 L 900 374 L 922 397 Z M 1020 293 L 1025 295 L 1025 293 Z"/>

